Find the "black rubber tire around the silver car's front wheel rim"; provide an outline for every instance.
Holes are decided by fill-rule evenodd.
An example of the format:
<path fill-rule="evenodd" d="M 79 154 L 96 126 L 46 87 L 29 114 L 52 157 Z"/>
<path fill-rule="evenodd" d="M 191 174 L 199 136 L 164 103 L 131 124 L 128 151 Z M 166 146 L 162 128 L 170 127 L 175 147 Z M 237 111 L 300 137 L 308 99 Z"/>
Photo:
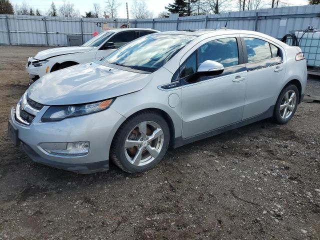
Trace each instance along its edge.
<path fill-rule="evenodd" d="M 131 164 L 126 159 L 124 153 L 124 142 L 131 129 L 143 121 L 153 121 L 161 127 L 163 131 L 163 145 L 159 154 L 154 158 L 153 161 L 143 166 L 136 166 Z M 149 170 L 163 158 L 169 145 L 169 139 L 169 127 L 165 119 L 161 116 L 161 114 L 151 110 L 143 110 L 137 112 L 132 116 L 128 117 L 115 133 L 110 147 L 110 159 L 113 161 L 115 165 L 117 165 L 123 171 L 129 173 L 136 173 Z"/>

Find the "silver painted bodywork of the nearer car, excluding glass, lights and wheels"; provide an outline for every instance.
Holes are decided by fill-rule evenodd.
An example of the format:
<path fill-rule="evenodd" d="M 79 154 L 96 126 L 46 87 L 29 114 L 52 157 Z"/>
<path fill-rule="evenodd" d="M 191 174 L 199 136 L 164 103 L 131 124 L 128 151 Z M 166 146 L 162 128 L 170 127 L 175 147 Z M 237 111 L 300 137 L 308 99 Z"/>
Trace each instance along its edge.
<path fill-rule="evenodd" d="M 82 163 L 105 162 L 117 129 L 129 116 L 143 109 L 155 109 L 169 119 L 172 126 L 171 145 L 176 147 L 271 116 L 279 92 L 290 80 L 298 80 L 301 94 L 304 93 L 306 61 L 295 60 L 295 54 L 300 49 L 265 34 L 244 30 L 155 34 L 197 37 L 152 73 L 92 62 L 47 74 L 29 87 L 28 96 L 45 106 L 28 126 L 15 120 L 13 110 L 10 120 L 18 129 L 19 139 L 40 156 L 37 159 L 57 164 L 78 163 L 80 168 Z M 205 42 L 245 35 L 265 39 L 278 46 L 283 52 L 283 65 L 272 65 L 252 72 L 238 70 L 170 89 L 161 87 L 171 82 L 180 64 Z M 249 64 L 242 65 L 246 69 Z M 277 66 L 283 67 L 280 74 L 274 71 Z M 237 77 L 242 80 L 234 81 Z M 41 121 L 49 105 L 80 104 L 108 98 L 114 100 L 106 110 L 56 122 Z M 90 141 L 89 153 L 80 157 L 51 155 L 40 147 L 44 142 L 86 140 Z"/>

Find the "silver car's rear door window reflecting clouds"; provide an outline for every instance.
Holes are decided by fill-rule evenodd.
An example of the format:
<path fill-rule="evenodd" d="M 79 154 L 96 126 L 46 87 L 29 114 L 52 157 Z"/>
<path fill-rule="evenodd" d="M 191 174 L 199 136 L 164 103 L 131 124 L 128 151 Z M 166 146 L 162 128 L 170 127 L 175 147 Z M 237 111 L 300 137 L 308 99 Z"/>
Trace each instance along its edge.
<path fill-rule="evenodd" d="M 271 51 L 267 41 L 253 37 L 243 38 L 248 55 L 248 62 L 271 58 Z"/>

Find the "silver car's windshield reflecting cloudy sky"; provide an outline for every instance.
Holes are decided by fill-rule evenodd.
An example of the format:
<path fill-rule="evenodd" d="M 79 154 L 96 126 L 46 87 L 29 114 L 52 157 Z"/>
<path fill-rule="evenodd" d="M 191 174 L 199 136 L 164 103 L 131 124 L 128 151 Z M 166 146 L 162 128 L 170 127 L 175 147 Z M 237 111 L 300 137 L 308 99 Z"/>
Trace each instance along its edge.
<path fill-rule="evenodd" d="M 142 36 L 114 51 L 103 61 L 153 72 L 194 38 L 195 36 L 169 34 Z"/>

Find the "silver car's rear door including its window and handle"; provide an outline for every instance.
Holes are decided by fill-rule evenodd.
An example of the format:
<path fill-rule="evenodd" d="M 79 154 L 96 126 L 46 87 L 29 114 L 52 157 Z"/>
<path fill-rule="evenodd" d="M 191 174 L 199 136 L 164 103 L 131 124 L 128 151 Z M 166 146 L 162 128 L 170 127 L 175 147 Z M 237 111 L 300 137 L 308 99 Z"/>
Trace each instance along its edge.
<path fill-rule="evenodd" d="M 242 119 L 267 111 L 277 97 L 285 73 L 280 46 L 255 35 L 241 35 L 247 87 Z"/>

